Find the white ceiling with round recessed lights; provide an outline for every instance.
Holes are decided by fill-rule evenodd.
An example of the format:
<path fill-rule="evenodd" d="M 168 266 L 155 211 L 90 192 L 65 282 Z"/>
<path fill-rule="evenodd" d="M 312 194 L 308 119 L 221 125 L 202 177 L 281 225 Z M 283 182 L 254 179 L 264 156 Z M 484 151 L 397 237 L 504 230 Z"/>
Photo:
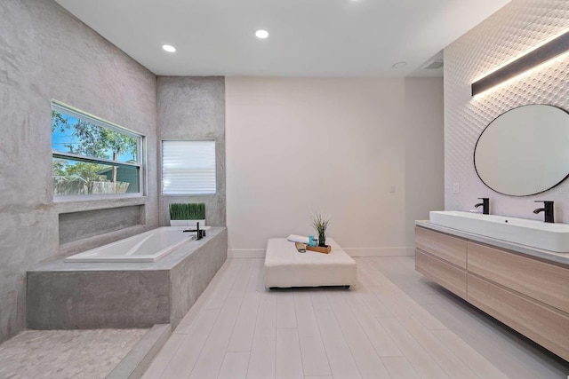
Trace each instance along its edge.
<path fill-rule="evenodd" d="M 156 75 L 406 76 L 509 0 L 56 0 Z M 268 39 L 254 36 L 267 29 Z M 178 51 L 168 53 L 162 44 Z M 403 68 L 393 69 L 399 61 Z M 442 70 L 439 70 L 442 75 Z M 427 75 L 427 74 L 426 74 Z M 430 73 L 432 75 L 432 73 Z"/>

